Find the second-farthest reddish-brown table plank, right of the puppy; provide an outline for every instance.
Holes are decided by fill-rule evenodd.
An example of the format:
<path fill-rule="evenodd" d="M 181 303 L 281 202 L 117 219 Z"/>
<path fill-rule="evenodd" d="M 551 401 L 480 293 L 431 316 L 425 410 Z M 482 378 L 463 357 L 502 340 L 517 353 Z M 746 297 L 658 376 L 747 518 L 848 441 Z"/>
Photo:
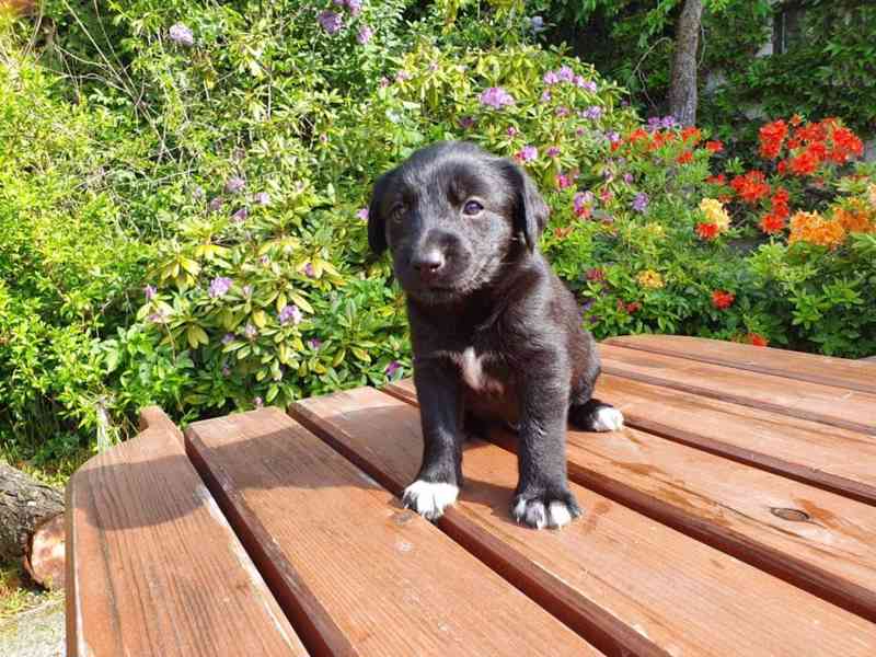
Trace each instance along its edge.
<path fill-rule="evenodd" d="M 876 394 L 600 344 L 602 371 L 876 435 Z"/>

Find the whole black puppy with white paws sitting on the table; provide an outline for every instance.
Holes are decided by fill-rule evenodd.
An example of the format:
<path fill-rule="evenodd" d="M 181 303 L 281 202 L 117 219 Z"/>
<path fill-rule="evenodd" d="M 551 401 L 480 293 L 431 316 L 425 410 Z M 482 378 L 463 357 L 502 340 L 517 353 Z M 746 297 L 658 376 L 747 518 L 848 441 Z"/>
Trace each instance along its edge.
<path fill-rule="evenodd" d="M 419 150 L 374 186 L 368 240 L 378 254 L 389 246 L 407 296 L 425 440 L 404 504 L 426 518 L 456 502 L 474 422 L 517 426 L 511 512 L 539 529 L 581 512 L 566 481 L 566 420 L 623 425 L 590 396 L 593 338 L 538 250 L 548 215 L 526 173 L 468 142 Z"/>

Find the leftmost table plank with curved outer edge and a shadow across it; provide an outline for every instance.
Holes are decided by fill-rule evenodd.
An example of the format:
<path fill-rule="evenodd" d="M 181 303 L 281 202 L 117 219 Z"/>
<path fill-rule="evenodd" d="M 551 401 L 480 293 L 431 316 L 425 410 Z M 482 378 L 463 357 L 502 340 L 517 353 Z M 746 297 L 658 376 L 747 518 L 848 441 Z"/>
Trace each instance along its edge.
<path fill-rule="evenodd" d="M 70 657 L 307 655 L 163 414 L 67 487 Z"/>

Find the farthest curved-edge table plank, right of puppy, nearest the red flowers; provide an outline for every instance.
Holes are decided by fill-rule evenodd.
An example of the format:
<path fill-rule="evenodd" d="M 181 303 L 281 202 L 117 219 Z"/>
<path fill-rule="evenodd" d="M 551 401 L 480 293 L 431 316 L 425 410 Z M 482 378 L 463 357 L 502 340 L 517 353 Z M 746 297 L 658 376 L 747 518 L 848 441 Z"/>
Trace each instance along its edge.
<path fill-rule="evenodd" d="M 685 335 L 623 335 L 603 344 L 679 356 L 786 379 L 876 393 L 876 364 Z"/>

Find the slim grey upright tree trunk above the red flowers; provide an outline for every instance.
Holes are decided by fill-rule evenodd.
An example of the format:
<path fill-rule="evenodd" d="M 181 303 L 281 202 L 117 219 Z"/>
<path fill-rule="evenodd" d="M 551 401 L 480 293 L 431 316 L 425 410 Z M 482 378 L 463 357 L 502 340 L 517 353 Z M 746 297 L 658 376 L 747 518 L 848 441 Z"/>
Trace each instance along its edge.
<path fill-rule="evenodd" d="M 676 30 L 669 112 L 683 126 L 696 123 L 696 47 L 700 44 L 702 0 L 684 0 Z"/>

